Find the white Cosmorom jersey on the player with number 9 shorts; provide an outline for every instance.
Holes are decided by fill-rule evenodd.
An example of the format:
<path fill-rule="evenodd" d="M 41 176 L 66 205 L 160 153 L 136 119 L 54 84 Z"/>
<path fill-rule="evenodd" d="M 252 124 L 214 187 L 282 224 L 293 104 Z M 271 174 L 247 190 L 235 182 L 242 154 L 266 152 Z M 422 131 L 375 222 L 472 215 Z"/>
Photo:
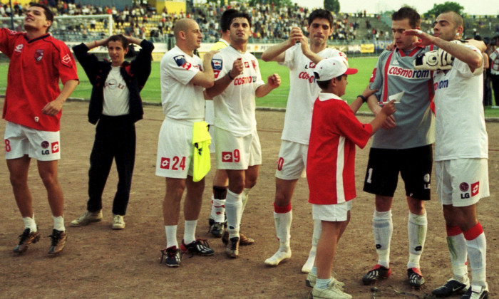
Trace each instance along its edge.
<path fill-rule="evenodd" d="M 217 80 L 229 73 L 234 61 L 240 58 L 244 66 L 242 74 L 237 75 L 220 95 L 213 98 L 213 103 L 215 127 L 232 132 L 235 136 L 246 136 L 257 127 L 255 92 L 264 85 L 258 60 L 252 53 L 240 53 L 229 46 L 213 56 L 212 67 Z"/>

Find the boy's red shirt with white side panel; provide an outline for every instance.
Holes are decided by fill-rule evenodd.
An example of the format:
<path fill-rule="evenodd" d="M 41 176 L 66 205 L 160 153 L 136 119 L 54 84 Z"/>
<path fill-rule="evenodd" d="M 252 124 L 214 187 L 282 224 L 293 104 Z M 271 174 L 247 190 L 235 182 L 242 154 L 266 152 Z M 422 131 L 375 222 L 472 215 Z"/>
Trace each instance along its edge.
<path fill-rule="evenodd" d="M 355 145 L 365 147 L 371 132 L 371 125 L 361 124 L 346 101 L 319 93 L 307 154 L 309 203 L 341 204 L 355 198 Z"/>

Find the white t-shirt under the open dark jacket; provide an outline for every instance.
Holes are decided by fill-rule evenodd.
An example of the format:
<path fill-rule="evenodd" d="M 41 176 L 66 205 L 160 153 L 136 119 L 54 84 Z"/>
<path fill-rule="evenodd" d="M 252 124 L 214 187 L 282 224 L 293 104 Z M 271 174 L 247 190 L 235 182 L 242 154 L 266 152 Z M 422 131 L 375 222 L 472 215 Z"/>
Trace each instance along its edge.
<path fill-rule="evenodd" d="M 103 115 L 127 115 L 130 112 L 130 91 L 121 76 L 120 66 L 112 66 L 104 85 Z"/>

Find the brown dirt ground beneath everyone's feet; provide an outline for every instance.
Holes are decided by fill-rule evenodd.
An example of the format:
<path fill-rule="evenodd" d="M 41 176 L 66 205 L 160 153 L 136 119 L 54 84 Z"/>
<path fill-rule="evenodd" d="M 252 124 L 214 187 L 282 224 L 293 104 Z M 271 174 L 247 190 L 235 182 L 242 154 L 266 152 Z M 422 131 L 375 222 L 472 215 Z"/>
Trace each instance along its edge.
<path fill-rule="evenodd" d="M 1 103 L 1 100 L 0 100 Z M 3 103 L 1 103 L 3 106 Z M 220 239 L 212 238 L 207 219 L 210 214 L 212 177 L 206 188 L 197 236 L 207 238 L 215 249 L 210 257 L 184 256 L 180 268 L 160 264 L 160 249 L 165 248 L 162 200 L 165 180 L 155 177 L 155 155 L 163 112 L 158 106 L 145 107 L 144 120 L 137 123 L 137 156 L 132 193 L 125 216 L 126 229 L 113 231 L 111 205 L 117 184 L 115 168 L 111 170 L 103 196 L 102 222 L 81 228 L 69 227 L 86 209 L 88 157 L 95 127 L 87 122 L 87 103 L 68 102 L 63 107 L 61 124 L 62 159 L 59 180 L 66 199 L 65 219 L 68 243 L 59 256 L 48 256 L 52 219 L 46 192 L 36 171 L 30 169 L 29 186 L 34 195 L 34 211 L 43 238 L 22 255 L 12 252 L 17 236 L 23 230 L 19 210 L 9 184 L 5 163 L 0 166 L 0 297 L 1 298 L 307 298 L 306 274 L 300 272 L 311 246 L 312 209 L 307 203 L 307 181 L 300 179 L 293 196 L 292 258 L 277 267 L 265 266 L 279 244 L 275 237 L 272 202 L 274 169 L 279 153 L 284 122 L 283 112 L 258 111 L 257 122 L 262 143 L 263 163 L 259 182 L 249 194 L 242 217 L 242 232 L 256 240 L 253 246 L 240 248 L 240 257 L 225 256 Z M 370 117 L 360 117 L 369 122 Z M 5 121 L 0 122 L 3 133 Z M 490 298 L 499 295 L 499 214 L 494 204 L 499 178 L 499 139 L 497 122 L 487 123 L 490 142 L 490 198 L 480 201 L 478 218 L 488 242 L 488 283 Z M 376 263 L 371 230 L 373 196 L 361 191 L 369 145 L 358 150 L 356 178 L 358 196 L 349 227 L 339 243 L 334 263 L 337 278 L 344 281 L 347 293 L 354 298 L 426 298 L 451 276 L 446 232 L 441 206 L 436 200 L 426 205 L 428 234 L 421 258 L 426 285 L 412 290 L 406 277 L 408 260 L 407 218 L 403 184 L 399 184 L 393 204 L 393 238 L 391 262 L 393 274 L 379 282 L 376 292 L 361 283 L 364 273 Z M 178 227 L 182 240 L 183 220 Z M 458 297 L 456 297 L 458 298 Z"/>

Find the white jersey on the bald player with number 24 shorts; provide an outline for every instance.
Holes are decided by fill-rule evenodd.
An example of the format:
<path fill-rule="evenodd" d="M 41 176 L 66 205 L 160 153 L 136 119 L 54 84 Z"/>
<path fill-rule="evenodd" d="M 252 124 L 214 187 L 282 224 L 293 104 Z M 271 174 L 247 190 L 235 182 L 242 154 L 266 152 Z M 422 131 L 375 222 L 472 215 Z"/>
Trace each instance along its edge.
<path fill-rule="evenodd" d="M 188 122 L 204 119 L 204 88 L 190 83 L 199 71 L 202 71 L 201 58 L 187 55 L 178 46 L 161 58 L 161 105 L 166 117 Z"/>

